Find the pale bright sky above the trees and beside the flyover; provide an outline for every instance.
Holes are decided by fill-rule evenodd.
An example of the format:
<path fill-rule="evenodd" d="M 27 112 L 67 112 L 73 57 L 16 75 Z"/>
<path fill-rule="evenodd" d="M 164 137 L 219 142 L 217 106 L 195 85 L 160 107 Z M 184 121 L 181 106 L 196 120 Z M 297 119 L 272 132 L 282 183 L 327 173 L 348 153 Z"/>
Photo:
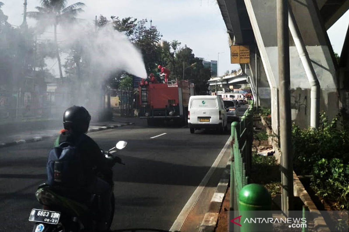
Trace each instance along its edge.
<path fill-rule="evenodd" d="M 5 3 L 2 10 L 9 16 L 8 22 L 20 25 L 24 0 L 1 1 Z M 217 60 L 219 56 L 219 75 L 239 68 L 239 65 L 230 63 L 229 38 L 216 0 L 68 0 L 68 5 L 78 1 L 86 4 L 78 18 L 91 22 L 95 15 L 151 19 L 152 25 L 163 35 L 163 40 L 178 40 L 181 46 L 187 45 L 193 49 L 196 57 L 208 61 Z M 28 11 L 35 11 L 39 2 L 28 0 Z M 343 47 L 348 22 L 349 11 L 327 31 L 333 50 L 338 54 Z M 35 25 L 35 22 L 29 19 L 29 25 Z M 46 34 L 53 37 L 52 33 Z"/>

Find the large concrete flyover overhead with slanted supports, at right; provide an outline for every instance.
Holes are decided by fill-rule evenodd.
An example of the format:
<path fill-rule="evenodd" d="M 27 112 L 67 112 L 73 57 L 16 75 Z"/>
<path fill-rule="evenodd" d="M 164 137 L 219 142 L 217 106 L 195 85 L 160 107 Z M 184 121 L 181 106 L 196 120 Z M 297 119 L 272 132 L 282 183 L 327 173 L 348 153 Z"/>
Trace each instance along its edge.
<path fill-rule="evenodd" d="M 259 105 L 272 109 L 272 127 L 279 134 L 278 56 L 276 0 L 217 0 L 231 45 L 249 45 L 250 63 L 241 64 L 257 92 Z M 341 60 L 337 63 L 327 35 L 348 9 L 348 0 L 289 0 L 294 25 L 309 54 L 312 69 L 320 83 L 320 111 L 329 117 L 341 107 L 349 108 L 348 33 Z M 343 30 L 348 30 L 348 25 Z M 300 54 L 290 34 L 290 77 L 292 120 L 310 125 L 310 87 Z"/>

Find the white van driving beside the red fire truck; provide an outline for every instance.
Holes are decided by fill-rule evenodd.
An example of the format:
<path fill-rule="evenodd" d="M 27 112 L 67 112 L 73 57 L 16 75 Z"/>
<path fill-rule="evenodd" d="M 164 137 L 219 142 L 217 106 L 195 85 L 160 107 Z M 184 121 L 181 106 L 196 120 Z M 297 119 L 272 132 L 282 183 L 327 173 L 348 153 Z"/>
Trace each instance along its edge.
<path fill-rule="evenodd" d="M 188 125 L 195 129 L 227 130 L 227 111 L 221 96 L 196 95 L 189 98 Z"/>

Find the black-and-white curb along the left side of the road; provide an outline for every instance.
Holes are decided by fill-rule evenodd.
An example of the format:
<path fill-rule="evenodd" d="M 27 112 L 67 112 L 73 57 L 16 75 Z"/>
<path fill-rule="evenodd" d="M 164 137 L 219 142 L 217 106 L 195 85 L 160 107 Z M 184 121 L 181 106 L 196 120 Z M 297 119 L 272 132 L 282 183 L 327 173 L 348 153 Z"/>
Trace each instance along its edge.
<path fill-rule="evenodd" d="M 94 131 L 100 131 L 100 130 L 113 129 L 113 128 L 118 128 L 118 127 L 133 125 L 133 124 L 134 124 L 133 122 L 127 122 L 127 123 L 125 123 L 125 125 L 115 124 L 115 125 L 110 125 L 110 126 L 99 126 L 99 127 L 98 126 L 94 126 L 94 128 L 89 129 L 87 131 L 87 133 L 94 132 Z M 8 142 L 8 143 L 0 143 L 0 148 L 14 146 L 14 145 L 17 145 L 17 144 L 22 144 L 22 143 L 34 143 L 34 142 L 42 141 L 44 139 L 52 138 L 52 137 L 55 137 L 55 136 L 57 136 L 57 134 L 35 136 L 35 137 L 29 138 L 29 139 L 20 139 L 20 140 Z"/>

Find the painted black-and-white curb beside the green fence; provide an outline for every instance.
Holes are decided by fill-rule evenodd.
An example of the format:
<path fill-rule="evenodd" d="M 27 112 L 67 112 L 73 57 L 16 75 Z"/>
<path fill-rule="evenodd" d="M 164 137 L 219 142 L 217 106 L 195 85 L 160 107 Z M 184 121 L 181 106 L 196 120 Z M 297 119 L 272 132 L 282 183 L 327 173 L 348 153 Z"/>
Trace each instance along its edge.
<path fill-rule="evenodd" d="M 225 193 L 228 189 L 230 179 L 230 161 L 225 166 L 220 182 L 217 185 L 216 192 L 210 201 L 208 212 L 203 217 L 199 232 L 213 232 L 218 221 L 219 211 L 221 209 Z"/>

